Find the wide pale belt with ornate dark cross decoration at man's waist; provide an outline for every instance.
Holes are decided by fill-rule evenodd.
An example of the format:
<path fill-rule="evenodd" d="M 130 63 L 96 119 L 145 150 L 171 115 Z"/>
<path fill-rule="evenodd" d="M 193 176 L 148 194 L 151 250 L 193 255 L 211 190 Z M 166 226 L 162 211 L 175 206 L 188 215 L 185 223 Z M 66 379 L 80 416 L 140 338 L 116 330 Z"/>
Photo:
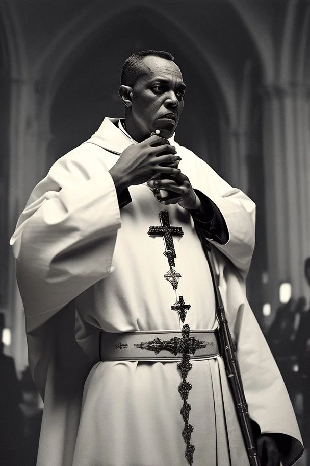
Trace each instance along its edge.
<path fill-rule="evenodd" d="M 136 331 L 100 333 L 101 361 L 175 361 L 220 356 L 218 330 L 193 330 L 188 337 L 181 331 Z"/>

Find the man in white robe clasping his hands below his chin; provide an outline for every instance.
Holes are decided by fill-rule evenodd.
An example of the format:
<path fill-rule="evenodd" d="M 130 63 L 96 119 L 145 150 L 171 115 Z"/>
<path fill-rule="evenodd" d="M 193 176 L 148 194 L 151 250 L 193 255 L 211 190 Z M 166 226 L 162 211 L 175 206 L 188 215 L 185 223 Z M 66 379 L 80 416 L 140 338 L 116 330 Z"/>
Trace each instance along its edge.
<path fill-rule="evenodd" d="M 197 232 L 212 245 L 263 464 L 302 452 L 245 297 L 254 205 L 174 141 L 184 93 L 170 54 L 128 58 L 125 119 L 106 118 L 58 160 L 18 221 L 17 279 L 45 401 L 38 466 L 249 464 Z"/>

